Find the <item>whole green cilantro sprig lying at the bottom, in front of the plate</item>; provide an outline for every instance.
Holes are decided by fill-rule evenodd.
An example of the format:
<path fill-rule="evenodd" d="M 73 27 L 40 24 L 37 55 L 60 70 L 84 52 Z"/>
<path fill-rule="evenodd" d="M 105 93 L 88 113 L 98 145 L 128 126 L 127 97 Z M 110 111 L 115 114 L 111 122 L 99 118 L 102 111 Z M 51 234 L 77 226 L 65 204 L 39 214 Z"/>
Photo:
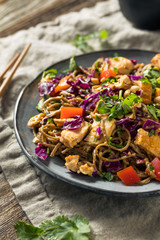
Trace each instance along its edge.
<path fill-rule="evenodd" d="M 91 240 L 89 222 L 82 216 L 75 215 L 71 220 L 57 216 L 53 220 L 42 222 L 39 227 L 23 221 L 15 225 L 18 240 Z"/>

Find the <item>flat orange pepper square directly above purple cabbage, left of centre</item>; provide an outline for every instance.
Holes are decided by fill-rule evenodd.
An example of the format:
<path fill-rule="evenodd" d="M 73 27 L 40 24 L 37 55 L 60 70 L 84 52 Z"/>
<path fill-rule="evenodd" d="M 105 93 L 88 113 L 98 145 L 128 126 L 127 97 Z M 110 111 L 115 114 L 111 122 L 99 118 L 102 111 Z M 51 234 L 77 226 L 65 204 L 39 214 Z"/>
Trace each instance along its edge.
<path fill-rule="evenodd" d="M 61 119 L 66 119 L 74 116 L 82 116 L 83 109 L 78 107 L 61 107 Z"/>

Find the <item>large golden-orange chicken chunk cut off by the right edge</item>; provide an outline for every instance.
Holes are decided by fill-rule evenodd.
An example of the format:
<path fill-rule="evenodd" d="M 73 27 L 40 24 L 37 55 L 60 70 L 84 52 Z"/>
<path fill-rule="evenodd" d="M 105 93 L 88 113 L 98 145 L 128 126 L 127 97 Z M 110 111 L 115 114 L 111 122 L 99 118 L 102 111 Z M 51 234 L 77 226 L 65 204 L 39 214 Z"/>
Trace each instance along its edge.
<path fill-rule="evenodd" d="M 138 133 L 134 143 L 143 148 L 147 153 L 160 158 L 160 137 L 152 135 L 149 137 L 148 132 L 142 128 L 138 129 Z"/>

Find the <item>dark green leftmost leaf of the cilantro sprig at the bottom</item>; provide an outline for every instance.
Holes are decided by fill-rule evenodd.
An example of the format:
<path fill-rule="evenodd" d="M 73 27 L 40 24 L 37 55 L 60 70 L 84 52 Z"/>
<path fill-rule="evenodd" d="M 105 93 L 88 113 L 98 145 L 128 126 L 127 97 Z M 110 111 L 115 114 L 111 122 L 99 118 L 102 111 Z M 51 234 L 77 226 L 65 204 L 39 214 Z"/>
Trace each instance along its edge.
<path fill-rule="evenodd" d="M 23 221 L 18 221 L 15 225 L 18 240 L 41 240 L 43 229 L 34 227 Z"/>

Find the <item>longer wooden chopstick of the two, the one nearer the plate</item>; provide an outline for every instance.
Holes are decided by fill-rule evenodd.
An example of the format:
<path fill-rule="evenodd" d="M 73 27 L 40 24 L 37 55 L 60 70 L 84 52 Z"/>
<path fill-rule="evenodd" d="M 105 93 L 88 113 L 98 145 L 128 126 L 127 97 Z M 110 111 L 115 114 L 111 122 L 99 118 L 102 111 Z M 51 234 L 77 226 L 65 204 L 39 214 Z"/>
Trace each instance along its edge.
<path fill-rule="evenodd" d="M 31 43 L 29 43 L 22 51 L 22 53 L 20 54 L 20 56 L 18 57 L 17 61 L 15 62 L 11 73 L 9 74 L 9 76 L 4 79 L 4 81 L 2 82 L 1 86 L 0 86 L 0 97 L 3 95 L 6 87 L 8 86 L 8 84 L 10 83 L 14 73 L 16 72 L 17 68 L 19 67 L 20 63 L 22 62 L 23 58 L 25 57 L 26 53 L 28 52 L 29 48 L 31 46 Z"/>

